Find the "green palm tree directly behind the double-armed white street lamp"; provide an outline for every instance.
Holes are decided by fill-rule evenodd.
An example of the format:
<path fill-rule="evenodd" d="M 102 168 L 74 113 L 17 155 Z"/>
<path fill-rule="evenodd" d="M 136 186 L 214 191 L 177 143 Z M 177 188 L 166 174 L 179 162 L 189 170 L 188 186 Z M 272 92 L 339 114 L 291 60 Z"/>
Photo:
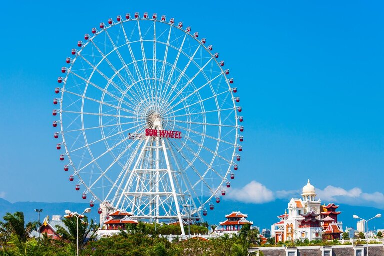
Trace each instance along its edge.
<path fill-rule="evenodd" d="M 62 220 L 66 229 L 62 226 L 56 225 L 57 233 L 61 235 L 63 240 L 67 240 L 76 245 L 77 242 L 77 219 L 75 217 L 64 218 Z M 93 219 L 88 223 L 88 218 L 84 216 L 78 223 L 78 243 L 79 249 L 84 248 L 86 243 L 91 240 L 95 240 L 96 232 L 100 227 L 99 224 L 95 224 Z"/>

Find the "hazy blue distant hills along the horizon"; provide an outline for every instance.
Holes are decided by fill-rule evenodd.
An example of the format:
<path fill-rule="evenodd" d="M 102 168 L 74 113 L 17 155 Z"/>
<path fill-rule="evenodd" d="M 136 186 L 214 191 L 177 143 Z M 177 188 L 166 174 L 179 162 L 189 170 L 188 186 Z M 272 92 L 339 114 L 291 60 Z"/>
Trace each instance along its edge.
<path fill-rule="evenodd" d="M 225 220 L 225 214 L 229 214 L 232 211 L 241 211 L 248 214 L 248 219 L 253 221 L 254 225 L 262 228 L 269 228 L 273 223 L 278 222 L 276 216 L 284 213 L 285 208 L 288 205 L 288 200 L 275 200 L 273 202 L 263 204 L 247 204 L 242 202 L 234 202 L 230 200 L 221 200 L 220 203 L 214 203 L 214 210 L 207 209 L 208 215 L 204 217 L 205 221 L 211 224 L 218 224 L 220 221 Z M 45 216 L 52 215 L 64 215 L 64 211 L 69 209 L 71 211 L 77 211 L 81 213 L 85 208 L 89 207 L 88 203 L 75 203 L 75 202 L 15 202 L 10 203 L 7 200 L 0 198 L 0 218 L 6 214 L 6 212 L 22 211 L 25 215 L 26 221 L 35 221 L 38 219 L 37 212 L 34 209 L 43 209 L 41 212 L 40 220 L 42 221 Z M 92 211 L 87 214 L 88 217 L 94 219 L 97 223 L 99 221 L 99 215 L 97 213 L 98 205 L 92 208 Z M 352 226 L 356 228 L 356 220 L 352 215 L 356 214 L 362 218 L 368 219 L 375 216 L 377 213 L 383 213 L 384 210 L 380 210 L 373 207 L 351 206 L 341 204 L 339 210 L 342 212 L 339 215 L 339 221 L 343 222 L 343 227 Z M 382 229 L 384 228 L 384 218 L 373 219 L 369 221 L 369 229 Z"/>

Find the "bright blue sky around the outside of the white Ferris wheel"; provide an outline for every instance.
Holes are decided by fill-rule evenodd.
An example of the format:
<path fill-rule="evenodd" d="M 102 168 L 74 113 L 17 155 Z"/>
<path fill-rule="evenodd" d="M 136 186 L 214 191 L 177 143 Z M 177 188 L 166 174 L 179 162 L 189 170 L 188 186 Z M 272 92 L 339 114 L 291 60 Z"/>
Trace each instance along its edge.
<path fill-rule="evenodd" d="M 322 200 L 384 209 L 383 9 L 380 1 L 8 1 L 0 196 L 81 200 L 52 136 L 56 79 L 92 27 L 147 11 L 199 31 L 235 77 L 245 139 L 232 199 L 289 198 L 310 178 Z"/>

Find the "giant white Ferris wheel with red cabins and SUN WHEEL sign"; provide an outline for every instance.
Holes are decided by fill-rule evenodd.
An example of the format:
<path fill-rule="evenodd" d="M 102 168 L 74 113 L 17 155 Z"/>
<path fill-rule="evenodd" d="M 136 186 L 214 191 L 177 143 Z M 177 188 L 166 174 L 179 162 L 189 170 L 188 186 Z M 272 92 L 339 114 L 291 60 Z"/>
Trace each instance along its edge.
<path fill-rule="evenodd" d="M 220 202 L 244 128 L 233 78 L 208 40 L 173 18 L 136 12 L 93 28 L 66 63 L 54 138 L 91 207 L 182 225 Z"/>

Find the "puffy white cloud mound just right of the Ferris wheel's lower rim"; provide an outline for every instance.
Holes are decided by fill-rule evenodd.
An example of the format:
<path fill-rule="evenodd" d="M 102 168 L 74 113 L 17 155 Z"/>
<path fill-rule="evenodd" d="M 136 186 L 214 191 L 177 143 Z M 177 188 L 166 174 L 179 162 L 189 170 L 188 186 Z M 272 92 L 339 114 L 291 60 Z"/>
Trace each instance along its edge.
<path fill-rule="evenodd" d="M 234 201 L 247 203 L 264 203 L 274 200 L 273 192 L 261 183 L 251 181 L 243 188 L 231 189 L 228 197 Z"/>

